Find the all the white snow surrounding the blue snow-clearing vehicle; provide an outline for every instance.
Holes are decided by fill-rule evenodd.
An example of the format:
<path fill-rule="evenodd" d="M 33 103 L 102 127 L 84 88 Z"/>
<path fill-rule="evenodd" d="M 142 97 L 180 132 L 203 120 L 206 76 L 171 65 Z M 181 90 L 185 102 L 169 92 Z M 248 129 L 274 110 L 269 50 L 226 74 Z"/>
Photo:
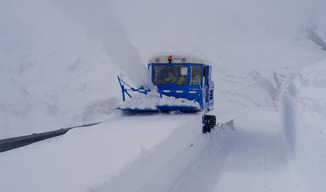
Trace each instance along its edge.
<path fill-rule="evenodd" d="M 0 191 L 325 191 L 325 7 L 0 1 L 0 139 L 105 121 L 0 153 Z M 211 61 L 213 113 L 234 130 L 119 117 L 116 77 L 143 84 L 157 52 Z M 141 96 L 123 105 L 194 104 Z"/>

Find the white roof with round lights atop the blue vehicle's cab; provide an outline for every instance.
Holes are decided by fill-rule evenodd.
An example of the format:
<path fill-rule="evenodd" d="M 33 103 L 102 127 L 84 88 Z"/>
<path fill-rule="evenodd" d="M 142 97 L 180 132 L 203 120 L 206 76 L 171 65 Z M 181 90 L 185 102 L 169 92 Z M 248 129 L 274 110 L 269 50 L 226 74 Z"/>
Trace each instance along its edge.
<path fill-rule="evenodd" d="M 169 57 L 169 55 L 159 55 L 159 56 L 151 57 L 150 61 L 148 61 L 148 62 L 150 64 L 152 64 L 152 63 L 168 64 L 169 61 L 167 60 L 167 57 Z M 172 55 L 171 64 L 182 64 L 182 63 L 210 65 L 209 61 L 205 61 L 203 59 L 195 59 L 195 58 L 183 56 L 183 55 Z"/>

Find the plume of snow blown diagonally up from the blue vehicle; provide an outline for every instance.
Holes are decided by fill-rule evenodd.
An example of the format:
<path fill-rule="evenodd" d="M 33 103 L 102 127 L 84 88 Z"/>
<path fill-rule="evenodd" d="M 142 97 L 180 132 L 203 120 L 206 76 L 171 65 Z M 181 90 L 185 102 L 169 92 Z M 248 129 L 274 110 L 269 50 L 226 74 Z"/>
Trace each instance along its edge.
<path fill-rule="evenodd" d="M 129 41 L 125 29 L 114 14 L 114 9 L 107 1 L 60 0 L 54 2 L 85 29 L 90 39 L 102 46 L 114 64 L 123 70 L 135 86 L 147 82 L 146 67 L 141 56 Z"/>

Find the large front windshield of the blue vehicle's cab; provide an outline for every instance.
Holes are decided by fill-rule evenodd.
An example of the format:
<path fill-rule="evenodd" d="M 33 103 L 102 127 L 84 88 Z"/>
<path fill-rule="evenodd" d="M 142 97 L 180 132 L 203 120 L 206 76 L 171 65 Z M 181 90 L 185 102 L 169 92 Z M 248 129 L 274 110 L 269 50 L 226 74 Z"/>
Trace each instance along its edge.
<path fill-rule="evenodd" d="M 185 65 L 156 65 L 154 66 L 154 84 L 177 86 L 188 84 L 188 66 Z"/>

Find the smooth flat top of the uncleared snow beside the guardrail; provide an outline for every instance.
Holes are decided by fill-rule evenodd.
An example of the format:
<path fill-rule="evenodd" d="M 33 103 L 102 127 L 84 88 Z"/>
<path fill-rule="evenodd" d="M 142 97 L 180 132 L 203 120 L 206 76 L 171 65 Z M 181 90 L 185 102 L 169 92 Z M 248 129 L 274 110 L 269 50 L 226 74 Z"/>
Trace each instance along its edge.
<path fill-rule="evenodd" d="M 110 119 L 1 153 L 0 170 L 6 174 L 0 176 L 0 191 L 89 191 L 118 177 L 137 158 L 147 157 L 154 146 L 163 147 L 189 119 L 144 117 L 142 124 L 137 117 Z"/>

